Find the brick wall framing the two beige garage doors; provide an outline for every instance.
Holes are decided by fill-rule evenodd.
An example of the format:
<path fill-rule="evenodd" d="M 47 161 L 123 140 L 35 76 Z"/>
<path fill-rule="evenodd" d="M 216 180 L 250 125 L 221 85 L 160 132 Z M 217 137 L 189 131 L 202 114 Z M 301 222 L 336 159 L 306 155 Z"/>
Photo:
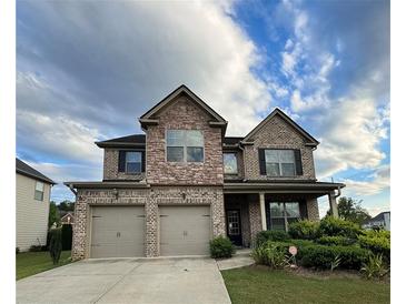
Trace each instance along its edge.
<path fill-rule="evenodd" d="M 185 199 L 184 199 L 185 193 Z M 159 205 L 210 205 L 212 235 L 225 235 L 224 195 L 221 186 L 156 186 L 151 189 L 78 190 L 75 206 L 72 259 L 90 256 L 91 205 L 145 205 L 146 256 L 159 255 Z"/>

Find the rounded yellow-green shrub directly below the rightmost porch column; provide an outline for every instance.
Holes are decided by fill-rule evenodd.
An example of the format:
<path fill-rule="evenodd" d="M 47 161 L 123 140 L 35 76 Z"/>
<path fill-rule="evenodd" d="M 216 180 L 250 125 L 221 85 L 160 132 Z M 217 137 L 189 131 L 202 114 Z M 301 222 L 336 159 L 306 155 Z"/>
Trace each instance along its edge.
<path fill-rule="evenodd" d="M 358 224 L 333 216 L 326 216 L 320 221 L 318 229 L 318 236 L 346 236 L 357 240 L 362 234 L 362 230 Z"/>

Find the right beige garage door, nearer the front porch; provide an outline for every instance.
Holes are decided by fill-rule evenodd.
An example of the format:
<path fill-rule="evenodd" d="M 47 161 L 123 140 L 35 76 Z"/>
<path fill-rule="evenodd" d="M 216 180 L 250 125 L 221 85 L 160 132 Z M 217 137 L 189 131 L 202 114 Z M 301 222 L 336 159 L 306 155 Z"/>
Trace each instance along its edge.
<path fill-rule="evenodd" d="M 207 255 L 210 206 L 160 206 L 160 255 Z"/>

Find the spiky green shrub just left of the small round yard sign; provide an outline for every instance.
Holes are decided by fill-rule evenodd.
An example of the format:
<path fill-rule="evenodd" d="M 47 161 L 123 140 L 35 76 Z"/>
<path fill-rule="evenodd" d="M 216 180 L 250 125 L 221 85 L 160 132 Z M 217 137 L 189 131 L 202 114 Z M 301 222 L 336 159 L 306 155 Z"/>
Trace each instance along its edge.
<path fill-rule="evenodd" d="M 285 249 L 271 241 L 263 243 L 252 250 L 252 259 L 257 264 L 267 265 L 271 268 L 283 268 L 288 264 Z"/>

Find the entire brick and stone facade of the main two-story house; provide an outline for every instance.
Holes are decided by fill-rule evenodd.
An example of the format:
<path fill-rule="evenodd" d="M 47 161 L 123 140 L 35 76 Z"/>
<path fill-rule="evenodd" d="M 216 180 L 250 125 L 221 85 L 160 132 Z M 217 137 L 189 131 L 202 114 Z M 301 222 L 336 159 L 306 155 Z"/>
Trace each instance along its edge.
<path fill-rule="evenodd" d="M 313 148 L 304 136 L 279 115 L 274 115 L 250 140 L 254 144 L 225 148 L 222 151 L 221 128 L 210 125 L 214 118 L 181 93 L 161 108 L 151 120 L 158 123 L 146 128 L 146 173 L 118 172 L 119 150 L 105 148 L 103 180 L 126 181 L 121 189 L 78 189 L 75 207 L 72 259 L 90 256 L 90 229 L 92 205 L 142 205 L 145 206 L 145 255 L 159 256 L 159 206 L 160 205 L 210 205 L 211 235 L 226 235 L 225 207 L 240 210 L 244 246 L 252 246 L 256 234 L 261 231 L 258 193 L 235 194 L 229 206 L 225 205 L 225 180 L 298 180 L 314 181 Z M 201 130 L 204 133 L 204 162 L 172 163 L 166 161 L 167 130 Z M 126 145 L 127 146 L 127 145 Z M 294 178 L 268 178 L 259 174 L 258 149 L 299 149 L 303 175 Z M 132 149 L 129 149 L 132 150 Z M 225 175 L 222 152 L 237 153 L 238 174 Z M 142 180 L 145 188 L 135 189 Z M 133 182 L 129 182 L 133 181 Z M 131 188 L 132 184 L 132 188 Z M 228 194 L 227 194 L 228 195 Z M 287 195 L 289 195 L 287 193 Z M 300 195 L 306 199 L 306 195 Z M 319 220 L 317 199 L 306 199 L 310 220 Z"/>

